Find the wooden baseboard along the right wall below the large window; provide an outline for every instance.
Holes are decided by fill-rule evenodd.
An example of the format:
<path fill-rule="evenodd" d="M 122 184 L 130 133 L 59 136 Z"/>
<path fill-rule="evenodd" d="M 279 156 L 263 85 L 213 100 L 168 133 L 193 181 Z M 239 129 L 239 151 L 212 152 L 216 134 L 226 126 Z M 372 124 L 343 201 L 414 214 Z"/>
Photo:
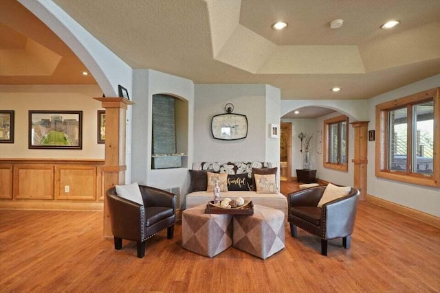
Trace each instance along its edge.
<path fill-rule="evenodd" d="M 401 215 L 406 215 L 408 218 L 412 218 L 415 220 L 419 220 L 425 224 L 430 226 L 434 226 L 436 228 L 440 228 L 440 218 L 430 215 L 428 213 L 423 213 L 421 211 L 417 211 L 415 209 L 411 209 L 409 207 L 404 207 L 400 204 L 396 204 L 394 202 L 390 202 L 388 200 L 384 200 L 382 198 L 377 198 L 375 196 L 371 196 L 369 194 L 366 195 L 366 201 L 376 205 L 377 207 L 383 207 L 384 209 L 388 209 L 395 213 L 399 213 Z"/>

